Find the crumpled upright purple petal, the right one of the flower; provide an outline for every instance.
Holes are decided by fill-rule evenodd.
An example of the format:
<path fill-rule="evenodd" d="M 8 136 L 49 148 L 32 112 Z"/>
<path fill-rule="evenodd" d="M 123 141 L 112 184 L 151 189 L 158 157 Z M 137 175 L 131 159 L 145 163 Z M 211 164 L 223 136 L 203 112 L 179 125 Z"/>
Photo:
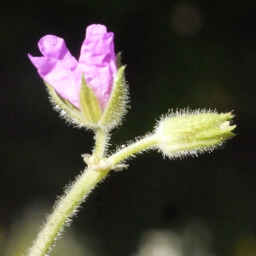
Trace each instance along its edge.
<path fill-rule="evenodd" d="M 86 38 L 81 48 L 77 78 L 84 73 L 86 83 L 94 90 L 102 108 L 105 108 L 117 73 L 113 50 L 113 33 L 106 26 L 87 27 Z"/>

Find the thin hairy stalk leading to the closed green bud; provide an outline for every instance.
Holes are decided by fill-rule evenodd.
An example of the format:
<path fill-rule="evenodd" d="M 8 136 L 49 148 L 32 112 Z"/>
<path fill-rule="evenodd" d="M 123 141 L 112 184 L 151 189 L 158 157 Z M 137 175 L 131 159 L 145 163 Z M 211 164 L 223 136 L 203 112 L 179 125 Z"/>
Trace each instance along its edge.
<path fill-rule="evenodd" d="M 143 139 L 132 143 L 126 148 L 120 149 L 117 153 L 111 155 L 108 160 L 113 162 L 114 165 L 117 165 L 122 160 L 130 157 L 132 154 L 137 154 L 146 150 L 148 148 L 154 148 L 154 146 L 159 142 L 159 137 L 156 135 L 151 135 L 144 137 Z"/>

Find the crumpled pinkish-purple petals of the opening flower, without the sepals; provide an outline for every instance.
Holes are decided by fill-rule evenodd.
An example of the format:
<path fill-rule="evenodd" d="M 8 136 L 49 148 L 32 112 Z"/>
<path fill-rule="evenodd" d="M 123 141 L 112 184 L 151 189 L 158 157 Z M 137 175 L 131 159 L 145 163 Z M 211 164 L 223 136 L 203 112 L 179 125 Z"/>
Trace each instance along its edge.
<path fill-rule="evenodd" d="M 106 26 L 90 25 L 82 44 L 79 61 L 67 49 L 62 38 L 47 35 L 38 42 L 42 57 L 28 55 L 45 82 L 75 107 L 80 108 L 79 92 L 82 76 L 94 91 L 102 110 L 108 104 L 117 73 L 113 32 Z"/>

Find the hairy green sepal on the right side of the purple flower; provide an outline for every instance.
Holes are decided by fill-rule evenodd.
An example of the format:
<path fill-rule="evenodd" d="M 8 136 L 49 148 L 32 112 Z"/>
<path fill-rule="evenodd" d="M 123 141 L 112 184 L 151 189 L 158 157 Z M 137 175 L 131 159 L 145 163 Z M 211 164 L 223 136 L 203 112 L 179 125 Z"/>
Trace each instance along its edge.
<path fill-rule="evenodd" d="M 119 70 L 113 79 L 113 88 L 108 100 L 108 104 L 102 113 L 99 125 L 103 130 L 111 130 L 119 125 L 126 113 L 128 102 L 128 90 L 125 84 L 125 66 Z"/>

